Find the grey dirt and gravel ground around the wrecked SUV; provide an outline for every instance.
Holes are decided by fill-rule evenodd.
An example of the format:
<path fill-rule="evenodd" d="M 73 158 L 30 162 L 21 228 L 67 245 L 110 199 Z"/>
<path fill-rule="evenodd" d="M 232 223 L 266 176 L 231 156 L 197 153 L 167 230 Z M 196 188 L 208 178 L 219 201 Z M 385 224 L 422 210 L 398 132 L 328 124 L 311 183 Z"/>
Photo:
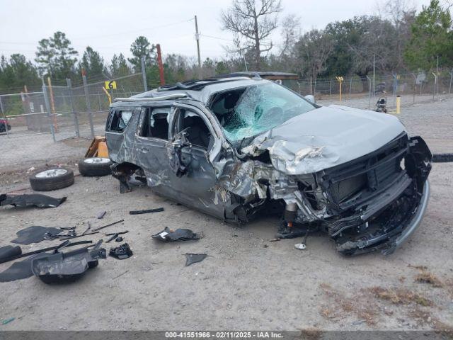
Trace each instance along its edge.
<path fill-rule="evenodd" d="M 354 104 L 354 103 L 350 103 Z M 357 107 L 363 107 L 357 101 Z M 411 134 L 422 135 L 434 152 L 453 152 L 453 100 L 403 109 Z M 0 191 L 30 193 L 27 169 L 74 164 L 87 141 L 47 140 L 14 147 L 0 136 Z M 15 144 L 16 145 L 16 144 Z M 16 145 L 16 146 L 17 146 Z M 30 153 L 29 149 L 33 149 Z M 47 151 L 49 151 L 47 153 Z M 61 155 L 62 158 L 57 157 Z M 6 162 L 5 162 L 6 160 Z M 76 283 L 45 285 L 32 277 L 0 283 L 0 330 L 115 329 L 453 329 L 453 164 L 433 164 L 432 193 L 423 224 L 390 256 L 338 254 L 326 235 L 270 242 L 277 219 L 243 227 L 156 196 L 149 188 L 120 194 L 110 176 L 76 176 L 73 186 L 51 193 L 67 196 L 58 208 L 0 208 L 0 246 L 30 225 L 93 227 L 124 219 L 103 231 L 125 235 L 134 256 L 108 257 Z M 129 215 L 164 207 L 164 212 Z M 98 212 L 106 210 L 103 220 Z M 151 234 L 164 227 L 202 232 L 193 242 L 161 244 Z M 104 234 L 80 239 L 105 239 Z M 23 251 L 58 242 L 23 246 Z M 107 244 L 110 249 L 113 244 Z M 185 266 L 185 253 L 205 253 Z M 0 264 L 0 271 L 11 263 Z"/>

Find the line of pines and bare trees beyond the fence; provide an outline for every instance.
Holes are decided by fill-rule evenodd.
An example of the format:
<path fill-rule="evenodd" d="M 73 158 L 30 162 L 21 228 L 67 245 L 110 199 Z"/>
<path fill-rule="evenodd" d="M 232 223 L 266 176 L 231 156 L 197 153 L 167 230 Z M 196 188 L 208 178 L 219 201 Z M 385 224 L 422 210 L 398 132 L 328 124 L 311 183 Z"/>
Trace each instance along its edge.
<path fill-rule="evenodd" d="M 380 74 L 394 74 L 430 72 L 437 63 L 439 67 L 453 67 L 450 7 L 439 0 L 431 0 L 418 13 L 404 0 L 388 0 L 376 15 L 335 21 L 304 33 L 299 16 L 280 18 L 281 11 L 278 0 L 232 0 L 221 13 L 222 28 L 234 37 L 224 57 L 206 58 L 199 68 L 195 57 L 166 55 L 166 82 L 247 69 L 295 72 L 312 79 L 357 76 L 365 86 L 373 68 Z M 281 43 L 275 45 L 271 35 L 277 28 Z M 119 53 L 106 62 L 88 46 L 79 56 L 65 33 L 56 32 L 38 42 L 33 62 L 18 53 L 0 57 L 0 92 L 23 91 L 24 85 L 38 89 L 47 77 L 59 85 L 66 84 L 67 78 L 80 84 L 82 69 L 88 82 L 123 77 L 141 72 L 142 57 L 150 87 L 158 86 L 156 45 L 139 36 L 130 52 L 130 58 Z"/>

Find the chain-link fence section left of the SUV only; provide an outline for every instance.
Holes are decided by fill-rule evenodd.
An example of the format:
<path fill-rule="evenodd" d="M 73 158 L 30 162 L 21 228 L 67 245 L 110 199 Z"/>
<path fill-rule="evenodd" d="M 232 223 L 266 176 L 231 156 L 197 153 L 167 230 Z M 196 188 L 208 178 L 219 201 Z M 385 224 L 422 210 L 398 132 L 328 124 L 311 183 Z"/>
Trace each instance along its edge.
<path fill-rule="evenodd" d="M 142 73 L 72 86 L 42 85 L 42 91 L 0 95 L 0 135 L 8 138 L 50 135 L 54 141 L 103 135 L 110 103 L 144 91 Z"/>

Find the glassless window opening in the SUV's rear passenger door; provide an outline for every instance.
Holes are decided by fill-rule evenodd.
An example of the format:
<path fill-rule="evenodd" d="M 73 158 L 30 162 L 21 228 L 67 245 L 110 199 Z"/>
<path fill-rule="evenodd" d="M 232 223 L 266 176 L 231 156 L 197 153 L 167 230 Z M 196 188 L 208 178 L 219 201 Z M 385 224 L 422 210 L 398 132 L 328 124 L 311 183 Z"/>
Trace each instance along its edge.
<path fill-rule="evenodd" d="M 168 140 L 168 113 L 170 108 L 147 108 L 139 135 Z"/>

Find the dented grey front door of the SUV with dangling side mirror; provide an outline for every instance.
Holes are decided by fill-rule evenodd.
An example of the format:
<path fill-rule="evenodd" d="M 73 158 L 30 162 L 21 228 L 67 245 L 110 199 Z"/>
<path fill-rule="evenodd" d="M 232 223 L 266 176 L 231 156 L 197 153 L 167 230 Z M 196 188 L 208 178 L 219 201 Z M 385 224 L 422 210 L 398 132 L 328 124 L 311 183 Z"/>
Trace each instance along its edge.
<path fill-rule="evenodd" d="M 179 192 L 178 200 L 224 218 L 224 203 L 216 192 L 216 172 L 210 161 L 214 145 L 220 142 L 219 133 L 207 113 L 196 106 L 175 104 L 173 112 L 171 181 Z"/>

